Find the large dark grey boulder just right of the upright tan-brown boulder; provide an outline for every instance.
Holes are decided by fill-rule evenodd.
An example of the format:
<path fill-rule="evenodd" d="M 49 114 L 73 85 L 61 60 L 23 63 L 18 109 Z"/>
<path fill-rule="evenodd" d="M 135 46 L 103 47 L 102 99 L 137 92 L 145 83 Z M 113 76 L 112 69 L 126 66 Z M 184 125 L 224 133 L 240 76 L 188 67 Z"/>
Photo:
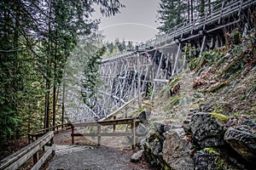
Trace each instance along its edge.
<path fill-rule="evenodd" d="M 189 129 L 192 140 L 201 148 L 222 146 L 226 128 L 218 121 L 218 118 L 209 113 L 199 112 L 191 117 Z"/>

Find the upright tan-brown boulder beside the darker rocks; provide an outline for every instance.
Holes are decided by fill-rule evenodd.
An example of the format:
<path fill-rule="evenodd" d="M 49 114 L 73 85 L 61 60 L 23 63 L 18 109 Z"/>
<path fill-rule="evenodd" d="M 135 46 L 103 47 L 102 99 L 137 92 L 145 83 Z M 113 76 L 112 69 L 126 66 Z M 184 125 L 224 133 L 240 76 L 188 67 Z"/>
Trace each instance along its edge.
<path fill-rule="evenodd" d="M 192 144 L 189 143 L 184 129 L 172 129 L 166 132 L 165 138 L 162 152 L 168 166 L 176 170 L 194 169 L 194 160 L 190 156 Z"/>

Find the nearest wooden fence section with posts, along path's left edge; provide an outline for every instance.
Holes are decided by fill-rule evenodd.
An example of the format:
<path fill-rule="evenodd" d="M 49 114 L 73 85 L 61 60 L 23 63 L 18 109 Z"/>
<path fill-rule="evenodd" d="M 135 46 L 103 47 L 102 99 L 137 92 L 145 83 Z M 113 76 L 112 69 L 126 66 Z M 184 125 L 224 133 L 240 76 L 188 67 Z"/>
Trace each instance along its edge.
<path fill-rule="evenodd" d="M 42 136 L 40 139 L 34 141 L 31 144 L 26 145 L 26 147 L 22 148 L 21 150 L 18 150 L 14 154 L 0 161 L 0 169 L 17 169 L 32 157 L 34 165 L 32 167 L 32 170 L 39 169 L 39 167 L 41 167 L 44 164 L 44 161 L 46 161 L 50 155 L 54 156 L 55 154 L 55 145 L 53 142 L 53 137 L 54 132 L 45 133 L 44 136 Z M 46 148 L 44 146 L 49 147 Z M 38 152 L 40 150 L 43 150 L 44 154 L 39 159 Z"/>

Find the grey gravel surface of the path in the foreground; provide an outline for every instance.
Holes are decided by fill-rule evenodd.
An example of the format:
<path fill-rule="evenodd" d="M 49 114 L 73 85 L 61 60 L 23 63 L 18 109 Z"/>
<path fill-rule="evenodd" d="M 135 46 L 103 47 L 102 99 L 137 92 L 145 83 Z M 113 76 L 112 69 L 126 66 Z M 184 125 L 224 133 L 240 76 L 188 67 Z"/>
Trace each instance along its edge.
<path fill-rule="evenodd" d="M 49 162 L 49 170 L 150 169 L 145 161 L 132 163 L 130 158 L 131 150 L 117 150 L 108 146 L 90 146 L 65 154 L 57 154 Z"/>

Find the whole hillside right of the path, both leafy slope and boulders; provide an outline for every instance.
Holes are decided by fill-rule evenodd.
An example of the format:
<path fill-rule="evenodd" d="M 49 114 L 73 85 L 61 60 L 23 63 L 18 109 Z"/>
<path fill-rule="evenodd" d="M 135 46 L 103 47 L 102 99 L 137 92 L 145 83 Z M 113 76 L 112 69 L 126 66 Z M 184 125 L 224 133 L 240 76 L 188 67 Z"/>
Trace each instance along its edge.
<path fill-rule="evenodd" d="M 226 47 L 189 59 L 154 98 L 140 147 L 160 169 L 254 169 L 256 39 L 230 35 Z M 241 41 L 240 41 L 241 40 Z M 235 43 L 236 42 L 236 43 Z M 141 121 L 141 123 L 143 123 Z"/>

